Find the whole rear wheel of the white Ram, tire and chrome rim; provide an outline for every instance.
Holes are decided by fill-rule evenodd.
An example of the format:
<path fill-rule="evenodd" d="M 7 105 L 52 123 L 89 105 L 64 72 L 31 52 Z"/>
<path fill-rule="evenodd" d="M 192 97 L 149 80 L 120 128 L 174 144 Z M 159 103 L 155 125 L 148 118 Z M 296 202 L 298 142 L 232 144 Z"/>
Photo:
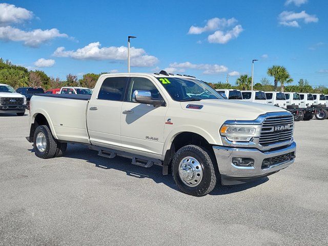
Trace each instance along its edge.
<path fill-rule="evenodd" d="M 48 126 L 38 126 L 33 138 L 35 155 L 39 158 L 49 159 L 54 157 L 57 143 Z"/>

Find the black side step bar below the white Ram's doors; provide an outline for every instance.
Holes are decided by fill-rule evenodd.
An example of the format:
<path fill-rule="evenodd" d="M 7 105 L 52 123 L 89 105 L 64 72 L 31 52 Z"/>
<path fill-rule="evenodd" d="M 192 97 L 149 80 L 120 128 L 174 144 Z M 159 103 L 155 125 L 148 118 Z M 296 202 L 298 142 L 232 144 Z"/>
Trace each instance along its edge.
<path fill-rule="evenodd" d="M 130 158 L 132 159 L 132 164 L 144 168 L 150 168 L 153 165 L 158 165 L 158 166 L 163 166 L 162 161 L 159 159 L 155 158 L 149 158 L 145 156 L 140 156 L 140 155 L 134 155 L 132 153 L 124 152 L 124 151 L 118 151 L 118 150 L 112 150 L 112 149 L 107 149 L 103 147 L 98 147 L 98 146 L 89 146 L 90 150 L 96 150 L 98 151 L 98 155 L 106 158 L 114 158 L 117 155 Z"/>

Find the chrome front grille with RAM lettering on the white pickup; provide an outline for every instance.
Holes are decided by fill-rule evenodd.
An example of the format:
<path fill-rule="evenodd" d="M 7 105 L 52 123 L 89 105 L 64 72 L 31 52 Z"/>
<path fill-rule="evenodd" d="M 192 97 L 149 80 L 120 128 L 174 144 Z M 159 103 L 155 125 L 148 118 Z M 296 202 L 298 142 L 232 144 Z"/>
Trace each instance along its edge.
<path fill-rule="evenodd" d="M 285 126 L 289 126 L 289 128 L 283 129 Z M 282 128 L 282 130 L 276 130 L 277 127 Z M 293 138 L 293 130 L 293 115 L 268 117 L 263 121 L 259 144 L 261 146 L 269 146 L 289 141 Z"/>

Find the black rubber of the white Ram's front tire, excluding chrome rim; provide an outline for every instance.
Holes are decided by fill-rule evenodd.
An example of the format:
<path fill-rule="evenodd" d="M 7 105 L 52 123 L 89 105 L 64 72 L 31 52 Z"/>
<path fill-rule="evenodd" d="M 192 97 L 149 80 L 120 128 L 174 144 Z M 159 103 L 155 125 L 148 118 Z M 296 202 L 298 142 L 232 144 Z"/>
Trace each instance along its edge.
<path fill-rule="evenodd" d="M 187 186 L 181 180 L 179 175 L 180 161 L 187 156 L 191 156 L 197 159 L 202 169 L 202 179 L 199 185 L 196 187 Z M 179 189 L 182 192 L 193 196 L 203 196 L 208 194 L 214 188 L 211 188 L 211 186 L 213 186 L 213 183 L 211 183 L 213 182 L 213 176 L 214 179 L 216 179 L 214 175 L 214 168 L 211 157 L 202 148 L 192 145 L 182 147 L 176 152 L 172 161 L 172 175 Z M 216 180 L 214 180 L 214 182 L 216 182 Z"/>

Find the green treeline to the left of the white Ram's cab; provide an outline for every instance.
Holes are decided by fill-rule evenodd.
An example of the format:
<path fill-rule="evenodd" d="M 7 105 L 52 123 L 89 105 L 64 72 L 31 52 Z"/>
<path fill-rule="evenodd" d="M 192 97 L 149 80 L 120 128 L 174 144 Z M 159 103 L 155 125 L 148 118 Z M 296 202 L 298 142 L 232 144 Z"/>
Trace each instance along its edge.
<path fill-rule="evenodd" d="M 49 77 L 44 71 L 29 71 L 22 66 L 13 65 L 9 60 L 0 58 L 0 84 L 7 84 L 17 89 L 19 87 L 42 87 L 45 90 L 63 86 L 80 86 L 94 88 L 98 77 L 103 74 L 87 73 L 78 79 L 76 75 L 66 75 L 66 80 Z"/>

